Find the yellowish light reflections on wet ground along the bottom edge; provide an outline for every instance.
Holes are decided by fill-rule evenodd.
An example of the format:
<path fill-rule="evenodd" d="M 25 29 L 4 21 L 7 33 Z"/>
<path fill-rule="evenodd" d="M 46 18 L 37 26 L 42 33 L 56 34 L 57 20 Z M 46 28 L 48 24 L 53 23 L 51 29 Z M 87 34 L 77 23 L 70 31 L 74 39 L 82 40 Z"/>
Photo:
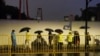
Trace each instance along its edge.
<path fill-rule="evenodd" d="M 10 55 L 9 54 L 0 54 L 0 56 L 10 56 Z M 16 54 L 16 55 L 12 55 L 12 56 L 38 56 L 38 55 L 36 55 L 36 54 Z M 44 54 L 42 56 L 49 56 L 49 54 Z M 54 55 L 54 56 L 56 56 L 56 55 Z M 77 53 L 77 54 L 64 53 L 62 56 L 88 56 L 88 55 L 85 55 L 85 53 Z M 89 56 L 100 56 L 100 52 L 89 53 Z"/>

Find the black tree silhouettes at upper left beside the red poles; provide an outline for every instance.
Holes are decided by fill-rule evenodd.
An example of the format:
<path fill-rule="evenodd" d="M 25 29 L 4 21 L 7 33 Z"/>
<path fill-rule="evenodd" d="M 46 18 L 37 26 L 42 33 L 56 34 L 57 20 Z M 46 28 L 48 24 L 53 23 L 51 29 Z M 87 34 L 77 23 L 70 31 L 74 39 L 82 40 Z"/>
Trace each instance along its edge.
<path fill-rule="evenodd" d="M 0 19 L 18 19 L 19 18 L 19 9 L 14 6 L 5 5 L 4 0 L 0 0 Z M 25 13 L 21 13 L 21 19 L 27 19 L 28 17 Z"/>

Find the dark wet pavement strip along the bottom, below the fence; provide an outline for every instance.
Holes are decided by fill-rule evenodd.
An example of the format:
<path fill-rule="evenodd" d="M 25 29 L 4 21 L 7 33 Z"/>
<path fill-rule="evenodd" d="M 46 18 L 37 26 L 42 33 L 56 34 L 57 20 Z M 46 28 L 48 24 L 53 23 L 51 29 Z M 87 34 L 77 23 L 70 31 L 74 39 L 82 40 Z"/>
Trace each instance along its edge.
<path fill-rule="evenodd" d="M 0 54 L 0 56 L 10 56 L 10 54 Z M 57 54 L 13 54 L 11 56 L 59 56 Z M 100 56 L 100 52 L 91 52 L 91 53 L 63 53 L 60 56 Z"/>

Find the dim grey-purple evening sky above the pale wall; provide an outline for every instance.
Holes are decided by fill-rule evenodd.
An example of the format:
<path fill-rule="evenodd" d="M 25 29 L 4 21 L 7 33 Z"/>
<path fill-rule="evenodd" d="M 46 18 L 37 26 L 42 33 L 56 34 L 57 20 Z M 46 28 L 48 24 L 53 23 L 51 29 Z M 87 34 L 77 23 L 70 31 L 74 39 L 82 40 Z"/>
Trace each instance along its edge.
<path fill-rule="evenodd" d="M 5 0 L 7 5 L 18 7 L 19 0 Z M 25 1 L 25 0 L 22 0 Z M 35 18 L 37 8 L 43 9 L 44 19 L 63 19 L 65 15 L 81 15 L 80 8 L 85 8 L 85 0 L 28 0 L 30 17 Z M 89 6 L 96 6 L 100 0 L 92 0 Z M 24 3 L 22 3 L 24 4 Z M 23 6 L 24 7 L 24 6 Z M 25 9 L 22 9 L 25 11 Z"/>

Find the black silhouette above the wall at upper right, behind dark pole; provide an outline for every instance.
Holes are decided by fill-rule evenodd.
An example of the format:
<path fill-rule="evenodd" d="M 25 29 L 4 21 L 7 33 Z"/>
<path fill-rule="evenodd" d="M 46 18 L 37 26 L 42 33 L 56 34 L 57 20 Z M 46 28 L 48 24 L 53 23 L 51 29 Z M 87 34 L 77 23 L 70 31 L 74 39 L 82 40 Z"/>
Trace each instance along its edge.
<path fill-rule="evenodd" d="M 81 10 L 81 12 L 82 12 L 81 20 L 85 20 L 86 9 Z M 88 21 L 91 21 L 91 20 L 100 21 L 100 3 L 98 3 L 96 7 L 87 8 L 87 18 L 88 18 Z"/>

